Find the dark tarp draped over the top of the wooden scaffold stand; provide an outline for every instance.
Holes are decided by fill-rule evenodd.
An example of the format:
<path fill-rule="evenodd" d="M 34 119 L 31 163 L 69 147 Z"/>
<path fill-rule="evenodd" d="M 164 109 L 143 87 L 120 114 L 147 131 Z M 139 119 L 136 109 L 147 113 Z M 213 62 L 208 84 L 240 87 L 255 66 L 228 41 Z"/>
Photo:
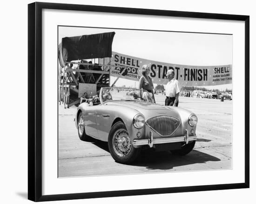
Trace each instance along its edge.
<path fill-rule="evenodd" d="M 59 45 L 61 67 L 72 60 L 111 57 L 114 35 L 115 32 L 110 32 L 62 38 Z"/>

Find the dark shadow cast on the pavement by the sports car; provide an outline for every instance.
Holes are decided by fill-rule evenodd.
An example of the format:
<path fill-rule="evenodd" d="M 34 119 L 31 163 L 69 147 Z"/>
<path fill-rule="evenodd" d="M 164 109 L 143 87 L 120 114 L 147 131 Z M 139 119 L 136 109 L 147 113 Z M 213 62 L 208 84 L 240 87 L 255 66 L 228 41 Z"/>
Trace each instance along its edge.
<path fill-rule="evenodd" d="M 88 142 L 109 152 L 107 142 L 102 142 L 94 138 L 89 138 Z M 144 166 L 148 170 L 170 170 L 177 166 L 203 164 L 209 161 L 217 162 L 220 161 L 220 159 L 197 150 L 192 150 L 185 156 L 177 156 L 173 155 L 170 151 L 148 149 L 142 150 L 140 157 L 132 165 Z"/>

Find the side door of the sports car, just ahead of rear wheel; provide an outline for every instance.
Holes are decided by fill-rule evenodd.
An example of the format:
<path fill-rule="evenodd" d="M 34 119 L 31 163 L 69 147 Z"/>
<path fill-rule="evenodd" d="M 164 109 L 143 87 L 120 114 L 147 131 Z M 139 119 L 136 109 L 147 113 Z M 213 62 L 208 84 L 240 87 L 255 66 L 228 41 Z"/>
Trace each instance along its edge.
<path fill-rule="evenodd" d="M 84 124 L 85 124 L 85 132 L 89 136 L 94 138 L 98 138 L 98 131 L 96 125 L 96 111 L 94 106 L 87 106 L 86 111 L 83 115 Z"/>

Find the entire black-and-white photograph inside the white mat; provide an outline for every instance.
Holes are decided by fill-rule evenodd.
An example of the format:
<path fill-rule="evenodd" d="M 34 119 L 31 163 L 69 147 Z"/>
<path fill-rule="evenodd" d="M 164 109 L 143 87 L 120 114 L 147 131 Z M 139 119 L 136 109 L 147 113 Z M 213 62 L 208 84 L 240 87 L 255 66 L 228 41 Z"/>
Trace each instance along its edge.
<path fill-rule="evenodd" d="M 58 178 L 233 168 L 232 34 L 57 33 Z"/>

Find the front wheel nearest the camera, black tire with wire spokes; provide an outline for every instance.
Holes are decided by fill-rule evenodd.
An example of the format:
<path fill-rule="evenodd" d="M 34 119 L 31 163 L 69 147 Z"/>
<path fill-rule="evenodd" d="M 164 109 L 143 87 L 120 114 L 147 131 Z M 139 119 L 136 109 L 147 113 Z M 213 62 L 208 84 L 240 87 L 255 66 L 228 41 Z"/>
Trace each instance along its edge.
<path fill-rule="evenodd" d="M 134 148 L 125 125 L 119 121 L 112 126 L 108 136 L 108 149 L 116 162 L 131 164 L 141 152 Z"/>

